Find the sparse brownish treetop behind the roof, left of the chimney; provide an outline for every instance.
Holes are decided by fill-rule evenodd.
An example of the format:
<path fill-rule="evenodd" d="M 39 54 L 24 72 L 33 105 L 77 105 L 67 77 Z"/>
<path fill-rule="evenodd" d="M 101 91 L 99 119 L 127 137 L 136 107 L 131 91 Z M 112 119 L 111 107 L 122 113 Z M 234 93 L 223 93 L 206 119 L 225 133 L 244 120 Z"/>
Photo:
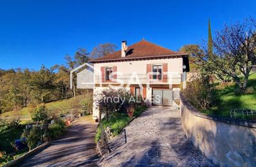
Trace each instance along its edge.
<path fill-rule="evenodd" d="M 111 44 L 111 43 L 99 44 L 98 46 L 93 48 L 91 57 L 93 58 L 104 57 L 105 55 L 113 53 L 114 51 L 116 51 L 116 49 L 117 49 L 117 46 L 115 44 Z"/>

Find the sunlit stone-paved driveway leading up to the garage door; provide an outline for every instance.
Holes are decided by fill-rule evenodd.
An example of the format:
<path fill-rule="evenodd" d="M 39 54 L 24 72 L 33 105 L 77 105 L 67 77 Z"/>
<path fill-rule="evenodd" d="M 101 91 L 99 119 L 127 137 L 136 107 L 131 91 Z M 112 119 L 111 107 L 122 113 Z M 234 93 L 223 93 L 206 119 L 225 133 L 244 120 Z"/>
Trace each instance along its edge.
<path fill-rule="evenodd" d="M 188 141 L 179 111 L 169 107 L 149 108 L 110 145 L 99 166 L 214 166 Z"/>

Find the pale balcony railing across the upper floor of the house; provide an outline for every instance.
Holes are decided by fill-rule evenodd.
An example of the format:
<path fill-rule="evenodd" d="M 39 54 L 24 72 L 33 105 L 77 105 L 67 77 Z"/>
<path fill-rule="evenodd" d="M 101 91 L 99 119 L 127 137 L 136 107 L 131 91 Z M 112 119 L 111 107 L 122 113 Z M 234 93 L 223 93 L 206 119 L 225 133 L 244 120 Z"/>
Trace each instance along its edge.
<path fill-rule="evenodd" d="M 103 78 L 103 79 L 102 79 Z M 161 76 L 161 80 L 158 79 L 152 79 L 153 77 L 147 75 L 147 74 L 129 74 L 129 75 L 116 75 L 116 78 L 112 79 L 113 77 L 110 75 L 107 78 L 111 78 L 110 80 L 106 80 L 105 75 L 95 75 L 95 84 L 96 83 L 120 83 L 123 82 L 123 84 L 181 84 L 182 82 L 182 75 L 181 74 L 168 74 L 165 75 L 165 78 L 163 78 L 163 75 Z M 116 80 L 116 82 L 114 82 Z"/>

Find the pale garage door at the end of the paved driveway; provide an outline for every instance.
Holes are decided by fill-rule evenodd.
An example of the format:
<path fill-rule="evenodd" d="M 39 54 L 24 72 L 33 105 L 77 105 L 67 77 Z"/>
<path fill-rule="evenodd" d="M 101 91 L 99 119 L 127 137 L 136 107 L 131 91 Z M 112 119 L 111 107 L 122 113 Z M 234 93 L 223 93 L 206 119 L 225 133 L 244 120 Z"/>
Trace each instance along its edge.
<path fill-rule="evenodd" d="M 153 89 L 153 105 L 172 105 L 172 91 Z"/>

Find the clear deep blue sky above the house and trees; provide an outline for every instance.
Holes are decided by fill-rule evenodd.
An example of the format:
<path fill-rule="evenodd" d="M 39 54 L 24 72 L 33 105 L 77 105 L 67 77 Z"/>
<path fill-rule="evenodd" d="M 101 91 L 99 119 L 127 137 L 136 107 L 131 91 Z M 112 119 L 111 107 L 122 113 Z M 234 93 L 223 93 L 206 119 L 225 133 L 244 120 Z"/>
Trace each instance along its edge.
<path fill-rule="evenodd" d="M 0 1 L 0 68 L 64 64 L 77 48 L 144 37 L 172 50 L 256 16 L 255 1 Z"/>

